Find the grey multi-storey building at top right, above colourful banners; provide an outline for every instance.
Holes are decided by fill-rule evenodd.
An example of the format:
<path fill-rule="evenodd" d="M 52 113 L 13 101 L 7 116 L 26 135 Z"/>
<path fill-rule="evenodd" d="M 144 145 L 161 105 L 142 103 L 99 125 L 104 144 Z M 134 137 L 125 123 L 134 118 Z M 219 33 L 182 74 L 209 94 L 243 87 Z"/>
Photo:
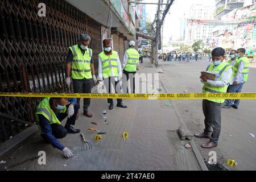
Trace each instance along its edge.
<path fill-rule="evenodd" d="M 215 0 L 215 1 L 216 1 L 216 5 L 215 5 L 214 18 L 220 19 L 221 16 L 228 14 L 230 11 L 243 7 L 243 3 L 245 3 L 246 0 Z"/>

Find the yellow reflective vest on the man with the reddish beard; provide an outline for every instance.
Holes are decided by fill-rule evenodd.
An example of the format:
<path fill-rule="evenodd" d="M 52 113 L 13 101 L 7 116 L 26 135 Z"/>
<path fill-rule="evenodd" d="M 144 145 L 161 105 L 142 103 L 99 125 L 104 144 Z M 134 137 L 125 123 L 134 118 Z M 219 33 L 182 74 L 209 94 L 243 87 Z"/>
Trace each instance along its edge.
<path fill-rule="evenodd" d="M 118 64 L 117 64 L 117 56 L 118 53 L 116 51 L 112 51 L 112 55 L 106 55 L 104 51 L 102 51 L 98 55 L 101 59 L 102 64 L 102 76 L 104 78 L 109 78 L 110 76 L 117 77 L 118 76 Z"/>

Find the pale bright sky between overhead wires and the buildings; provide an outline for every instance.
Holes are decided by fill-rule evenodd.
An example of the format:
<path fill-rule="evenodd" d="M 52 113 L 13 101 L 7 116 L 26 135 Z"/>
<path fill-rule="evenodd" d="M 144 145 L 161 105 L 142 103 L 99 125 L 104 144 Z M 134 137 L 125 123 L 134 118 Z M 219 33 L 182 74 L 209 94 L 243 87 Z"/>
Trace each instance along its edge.
<path fill-rule="evenodd" d="M 144 0 L 143 2 L 158 3 L 158 0 Z M 164 0 L 166 3 L 167 0 Z M 182 18 L 185 13 L 185 17 L 189 18 L 189 9 L 193 4 L 207 4 L 215 5 L 215 0 L 175 0 L 172 4 L 169 14 L 166 15 L 164 19 L 164 30 L 163 39 L 164 44 L 168 43 L 168 40 L 173 36 L 173 40 L 179 39 L 180 35 L 180 22 L 179 18 Z M 166 5 L 163 5 L 163 7 Z M 157 10 L 157 5 L 146 5 L 146 13 L 148 13 L 148 18 L 152 21 L 155 19 L 155 14 Z"/>

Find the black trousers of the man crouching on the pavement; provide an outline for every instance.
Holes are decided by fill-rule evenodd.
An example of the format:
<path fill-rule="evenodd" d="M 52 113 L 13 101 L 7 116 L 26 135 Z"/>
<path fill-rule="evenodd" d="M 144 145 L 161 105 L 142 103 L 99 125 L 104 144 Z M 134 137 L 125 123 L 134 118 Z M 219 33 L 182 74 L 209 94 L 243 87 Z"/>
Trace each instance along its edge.
<path fill-rule="evenodd" d="M 69 107 L 69 105 L 67 106 L 67 111 L 65 113 L 60 113 L 60 114 L 56 115 L 56 117 L 59 119 L 60 122 L 63 121 L 65 118 L 67 118 L 68 107 Z M 75 110 L 75 114 L 72 115 L 72 117 L 67 119 L 65 126 L 70 126 L 70 125 L 76 124 L 76 114 L 79 111 L 79 106 L 77 104 L 74 105 L 74 110 Z M 57 139 L 64 138 L 68 133 L 67 129 L 65 129 L 65 127 L 63 127 L 62 125 L 52 124 L 51 127 L 52 127 L 52 134 Z"/>

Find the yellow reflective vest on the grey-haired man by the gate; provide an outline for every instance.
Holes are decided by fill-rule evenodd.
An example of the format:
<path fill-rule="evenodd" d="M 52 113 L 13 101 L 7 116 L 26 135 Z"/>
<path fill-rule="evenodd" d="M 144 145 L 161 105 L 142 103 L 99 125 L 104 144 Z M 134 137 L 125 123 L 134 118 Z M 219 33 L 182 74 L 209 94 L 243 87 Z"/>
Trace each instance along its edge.
<path fill-rule="evenodd" d="M 92 71 L 90 68 L 90 60 L 92 59 L 92 49 L 87 48 L 85 54 L 82 54 L 78 45 L 69 47 L 73 53 L 73 61 L 71 74 L 73 79 L 90 79 Z"/>

